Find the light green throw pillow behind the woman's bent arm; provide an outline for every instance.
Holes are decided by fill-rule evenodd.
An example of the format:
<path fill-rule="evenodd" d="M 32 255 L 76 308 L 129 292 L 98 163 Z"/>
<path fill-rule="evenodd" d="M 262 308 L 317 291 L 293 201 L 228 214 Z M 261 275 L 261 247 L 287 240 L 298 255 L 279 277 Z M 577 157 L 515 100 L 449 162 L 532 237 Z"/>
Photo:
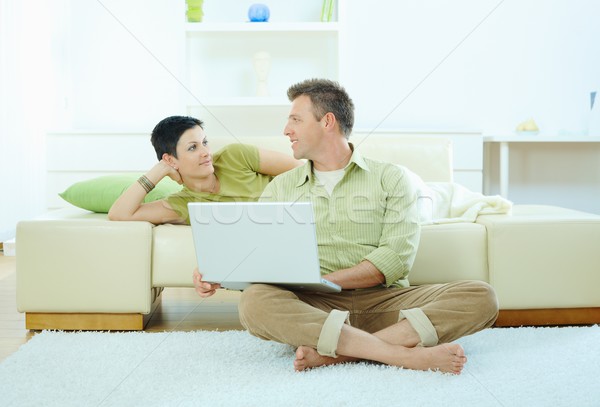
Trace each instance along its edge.
<path fill-rule="evenodd" d="M 58 194 L 72 205 L 88 211 L 108 213 L 112 204 L 142 174 L 105 175 L 86 181 L 77 182 Z M 169 177 L 163 178 L 144 202 L 157 201 L 181 190 L 181 185 Z"/>

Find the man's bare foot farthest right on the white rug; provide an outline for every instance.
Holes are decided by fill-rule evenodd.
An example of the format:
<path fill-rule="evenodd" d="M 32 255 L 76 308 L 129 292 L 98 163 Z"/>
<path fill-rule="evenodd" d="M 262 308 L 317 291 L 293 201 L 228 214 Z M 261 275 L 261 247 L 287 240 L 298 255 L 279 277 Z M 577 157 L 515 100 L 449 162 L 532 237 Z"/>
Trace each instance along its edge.
<path fill-rule="evenodd" d="M 396 366 L 415 370 L 436 370 L 445 373 L 460 374 L 467 357 L 462 346 L 455 343 L 444 343 L 431 348 L 404 348 L 400 363 L 391 363 Z"/>

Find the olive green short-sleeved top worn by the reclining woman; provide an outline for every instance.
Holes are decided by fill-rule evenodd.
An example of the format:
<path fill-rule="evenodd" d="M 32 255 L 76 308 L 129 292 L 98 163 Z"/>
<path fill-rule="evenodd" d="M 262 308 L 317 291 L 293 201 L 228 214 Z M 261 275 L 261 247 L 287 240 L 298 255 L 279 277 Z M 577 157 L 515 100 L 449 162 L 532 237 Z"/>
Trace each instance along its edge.
<path fill-rule="evenodd" d="M 261 174 L 258 148 L 248 144 L 229 144 L 213 154 L 215 174 L 221 184 L 219 192 L 194 192 L 183 189 L 166 198 L 177 214 L 190 223 L 189 202 L 258 201 L 272 176 Z"/>

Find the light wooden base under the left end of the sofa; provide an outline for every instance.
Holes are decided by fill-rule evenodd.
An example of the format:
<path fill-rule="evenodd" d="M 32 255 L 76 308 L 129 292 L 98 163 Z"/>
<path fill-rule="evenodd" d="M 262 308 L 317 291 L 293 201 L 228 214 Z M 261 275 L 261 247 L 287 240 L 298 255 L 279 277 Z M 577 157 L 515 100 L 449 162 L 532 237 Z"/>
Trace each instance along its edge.
<path fill-rule="evenodd" d="M 154 298 L 148 314 L 27 312 L 25 328 L 34 331 L 141 331 L 160 304 L 161 292 L 162 289 Z"/>

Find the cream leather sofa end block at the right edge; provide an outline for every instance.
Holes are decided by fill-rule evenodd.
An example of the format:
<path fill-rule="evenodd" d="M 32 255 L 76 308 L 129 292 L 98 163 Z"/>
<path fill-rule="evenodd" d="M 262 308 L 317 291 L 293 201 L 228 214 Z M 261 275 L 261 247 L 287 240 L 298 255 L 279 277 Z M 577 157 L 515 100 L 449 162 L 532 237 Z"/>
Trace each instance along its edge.
<path fill-rule="evenodd" d="M 538 205 L 480 216 L 502 309 L 600 307 L 600 216 Z"/>

